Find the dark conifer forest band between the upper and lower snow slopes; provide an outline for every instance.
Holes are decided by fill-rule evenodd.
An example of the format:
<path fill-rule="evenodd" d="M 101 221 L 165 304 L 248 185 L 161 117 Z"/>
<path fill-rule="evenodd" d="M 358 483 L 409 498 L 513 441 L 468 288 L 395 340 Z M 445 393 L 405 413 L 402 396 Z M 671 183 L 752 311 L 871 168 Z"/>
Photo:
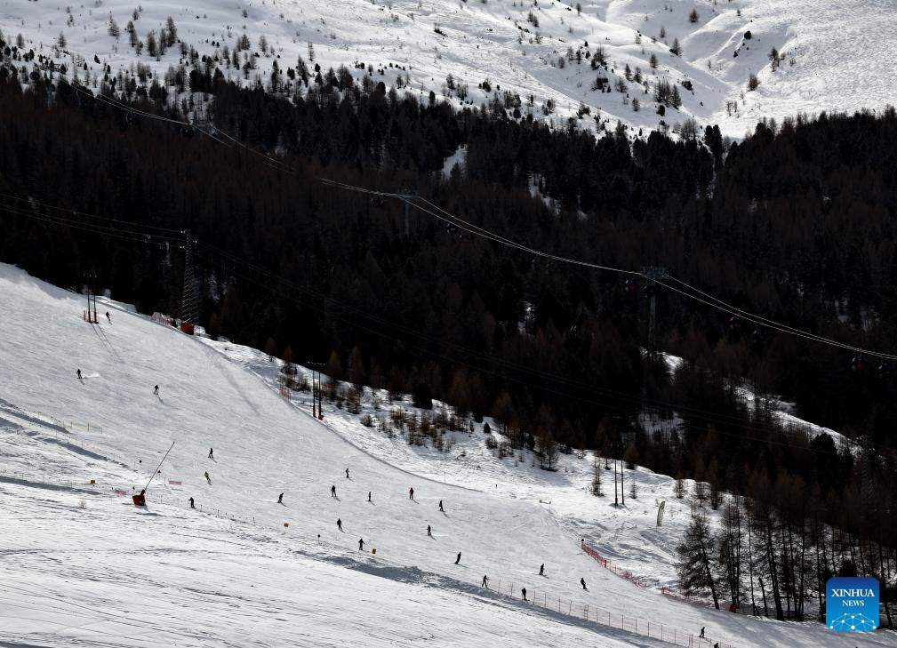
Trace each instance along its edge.
<path fill-rule="evenodd" d="M 208 68 L 188 85 L 190 106 L 169 105 L 155 84 L 119 99 L 176 119 L 201 103 L 219 136 L 0 68 L 0 261 L 179 316 L 189 230 L 210 335 L 326 363 L 336 379 L 423 407 L 440 398 L 494 416 L 519 447 L 597 448 L 694 478 L 709 506 L 723 491 L 749 497 L 727 504 L 727 531 L 703 554 L 725 598 L 803 617 L 807 589 L 832 574 L 893 582 L 897 367 L 662 281 L 655 335 L 684 358 L 674 372 L 644 354 L 643 280 L 537 258 L 322 182 L 414 193 L 557 257 L 666 267 L 737 309 L 895 354 L 893 109 L 762 123 L 733 143 L 716 127 L 596 139 L 514 118 L 501 102 L 458 112 L 351 74 L 295 97 Z M 443 173 L 459 146 L 463 166 Z M 852 442 L 782 428 L 767 395 Z M 678 425 L 644 425 L 645 413 L 674 411 Z"/>

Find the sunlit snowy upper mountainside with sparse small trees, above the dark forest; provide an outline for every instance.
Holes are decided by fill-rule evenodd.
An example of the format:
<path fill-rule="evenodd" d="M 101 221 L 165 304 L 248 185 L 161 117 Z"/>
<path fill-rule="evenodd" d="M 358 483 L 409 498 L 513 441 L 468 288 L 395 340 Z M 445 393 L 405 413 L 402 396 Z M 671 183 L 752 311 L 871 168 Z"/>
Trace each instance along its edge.
<path fill-rule="evenodd" d="M 580 127 L 592 129 L 596 118 L 605 126 L 622 119 L 636 129 L 658 127 L 654 94 L 662 80 L 682 99 L 680 109 L 667 107 L 668 126 L 693 116 L 699 126 L 718 123 L 732 136 L 743 136 L 764 117 L 880 109 L 897 102 L 889 65 L 897 15 L 887 0 L 192 0 L 144 3 L 142 11 L 138 6 L 120 0 L 75 5 L 5 0 L 0 29 L 11 42 L 21 33 L 25 51 L 45 55 L 52 55 L 62 34 L 69 67 L 86 62 L 95 82 L 107 65 L 117 73 L 141 63 L 161 76 L 178 66 L 184 59 L 179 45 L 158 57 L 150 57 L 145 47 L 149 32 L 159 39 L 171 17 L 185 45 L 201 56 L 219 57 L 224 74 L 243 83 L 268 83 L 275 60 L 284 73 L 301 56 L 325 72 L 348 66 L 357 78 L 368 66 L 374 79 L 388 86 L 405 87 L 424 100 L 432 91 L 456 106 L 503 101 L 503 93 L 510 92 L 518 100 L 509 100 L 509 111 L 518 101 L 522 114 L 532 112 L 558 126 L 579 113 Z M 109 34 L 110 18 L 118 25 L 118 39 Z M 140 56 L 129 45 L 128 21 L 144 42 Z M 745 39 L 747 31 L 751 39 Z M 239 52 L 239 66 L 250 54 L 258 55 L 250 57 L 255 69 L 248 72 L 221 60 L 224 48 L 232 54 L 244 34 L 251 49 Z M 675 40 L 681 56 L 670 51 Z M 607 64 L 596 70 L 590 62 L 599 46 Z M 775 71 L 772 48 L 781 54 Z M 65 58 L 58 54 L 57 60 Z M 83 79 L 83 69 L 78 72 Z M 753 92 L 746 88 L 750 74 L 759 81 Z M 609 92 L 594 89 L 598 76 L 607 80 Z M 282 79 L 289 81 L 285 74 Z M 553 111 L 546 115 L 549 100 Z"/>

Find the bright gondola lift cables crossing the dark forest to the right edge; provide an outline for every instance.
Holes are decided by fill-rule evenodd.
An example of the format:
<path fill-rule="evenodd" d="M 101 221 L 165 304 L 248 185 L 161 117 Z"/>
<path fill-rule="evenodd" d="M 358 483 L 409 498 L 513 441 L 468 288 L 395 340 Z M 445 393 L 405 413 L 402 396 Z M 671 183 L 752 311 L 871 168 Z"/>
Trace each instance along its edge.
<path fill-rule="evenodd" d="M 567 258 L 567 257 L 562 257 L 560 255 L 550 254 L 550 253 L 544 252 L 542 250 L 534 250 L 532 248 L 529 248 L 529 247 L 522 245 L 520 243 L 517 243 L 515 241 L 510 241 L 509 239 L 502 237 L 499 234 L 496 234 L 489 230 L 485 230 L 484 228 L 479 227 L 473 223 L 468 223 L 464 219 L 462 219 L 456 215 L 450 214 L 449 212 L 442 209 L 441 207 L 433 205 L 430 201 L 428 201 L 422 197 L 409 198 L 409 197 L 405 197 L 404 195 L 399 195 L 396 193 L 385 192 L 385 191 L 374 191 L 374 190 L 370 190 L 370 189 L 355 187 L 353 185 L 347 185 L 342 182 L 335 182 L 333 180 L 323 179 L 323 181 L 325 184 L 332 186 L 332 187 L 336 187 L 336 188 L 344 188 L 344 189 L 352 190 L 352 191 L 360 191 L 362 193 L 372 194 L 372 195 L 376 195 L 376 196 L 380 196 L 380 197 L 395 197 L 395 198 L 405 202 L 409 206 L 414 206 L 416 209 L 422 211 L 424 214 L 428 214 L 435 218 L 438 218 L 440 221 L 443 221 L 444 223 L 455 224 L 455 225 L 457 225 L 457 227 L 459 229 L 463 229 L 466 232 L 470 232 L 472 234 L 475 234 L 482 238 L 488 239 L 490 241 L 494 241 L 494 242 L 500 243 L 501 245 L 505 245 L 505 246 L 514 248 L 516 250 L 521 250 L 521 251 L 527 252 L 529 254 L 538 256 L 538 257 L 548 258 L 550 260 L 558 261 L 561 263 L 567 263 L 570 265 L 580 266 L 580 267 L 589 267 L 589 268 L 597 269 L 597 270 L 608 270 L 611 272 L 616 272 L 616 273 L 620 273 L 620 274 L 624 274 L 624 275 L 641 276 L 646 279 L 649 278 L 644 273 L 641 273 L 636 270 L 627 270 L 627 269 L 623 269 L 623 268 L 619 268 L 619 267 L 602 266 L 600 264 L 590 263 L 588 261 L 583 261 L 581 259 Z M 433 209 L 429 209 L 429 208 L 426 208 L 426 207 L 420 205 L 419 203 L 416 202 L 416 200 L 421 200 L 426 205 L 432 206 L 433 209 L 438 210 L 438 212 L 440 212 L 441 214 L 433 211 Z M 666 278 L 672 279 L 673 277 L 667 276 Z M 692 285 L 686 284 L 682 280 L 675 279 L 675 281 L 681 285 L 688 287 L 691 290 L 694 290 L 694 292 L 698 293 L 698 294 L 689 293 L 686 290 L 677 288 L 673 285 L 663 284 L 663 283 L 661 283 L 661 281 L 658 281 L 658 285 L 661 285 L 674 293 L 682 294 L 684 297 L 692 299 L 696 302 L 704 303 L 705 305 L 710 306 L 710 308 L 716 309 L 718 311 L 724 311 L 729 315 L 744 318 L 745 320 L 751 321 L 754 324 L 758 324 L 758 325 L 766 327 L 766 328 L 772 328 L 774 330 L 778 330 L 781 333 L 793 335 L 796 337 L 803 337 L 811 342 L 817 342 L 820 344 L 839 347 L 839 348 L 851 351 L 853 353 L 874 355 L 874 356 L 880 357 L 882 359 L 886 358 L 889 360 L 897 360 L 897 355 L 886 354 L 882 351 L 865 349 L 860 346 L 854 346 L 854 345 L 849 345 L 849 344 L 846 344 L 843 342 L 838 342 L 837 340 L 833 340 L 829 337 L 818 336 L 818 335 L 815 335 L 814 333 L 810 333 L 810 332 L 802 330 L 800 328 L 794 328 L 794 327 L 790 327 L 786 324 L 780 324 L 779 322 L 777 322 L 775 320 L 769 320 L 767 318 L 763 318 L 762 316 L 756 315 L 750 311 L 744 311 L 741 309 L 737 309 L 735 306 L 732 306 L 731 304 L 728 304 L 727 302 L 723 302 L 722 300 L 720 300 L 716 297 L 713 297 L 712 295 L 709 295 L 708 293 L 703 293 L 702 291 L 698 290 L 697 288 L 694 288 Z M 709 299 L 704 299 L 702 296 L 699 296 L 699 295 L 707 296 Z"/>

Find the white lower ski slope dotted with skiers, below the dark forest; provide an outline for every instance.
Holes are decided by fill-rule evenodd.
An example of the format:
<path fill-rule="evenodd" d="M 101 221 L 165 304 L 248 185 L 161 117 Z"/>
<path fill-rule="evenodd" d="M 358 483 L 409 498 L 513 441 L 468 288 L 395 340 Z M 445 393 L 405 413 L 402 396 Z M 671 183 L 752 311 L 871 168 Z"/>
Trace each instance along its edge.
<path fill-rule="evenodd" d="M 614 509 L 585 495 L 588 459 L 567 458 L 554 474 L 513 468 L 475 436 L 469 460 L 428 458 L 401 438 L 366 436 L 330 405 L 323 424 L 311 418 L 274 389 L 275 365 L 245 347 L 114 302 L 88 324 L 81 295 L 9 266 L 0 303 L 0 645 L 710 648 L 690 636 L 701 626 L 712 642 L 745 648 L 895 642 L 680 603 L 580 550 L 587 537 L 667 582 L 687 514 L 668 502 L 669 522 L 654 526 L 666 477 L 639 471 L 638 503 Z M 145 510 L 114 493 L 142 488 L 172 441 Z M 519 600 L 522 587 L 539 606 Z M 593 620 L 575 618 L 584 612 Z"/>

